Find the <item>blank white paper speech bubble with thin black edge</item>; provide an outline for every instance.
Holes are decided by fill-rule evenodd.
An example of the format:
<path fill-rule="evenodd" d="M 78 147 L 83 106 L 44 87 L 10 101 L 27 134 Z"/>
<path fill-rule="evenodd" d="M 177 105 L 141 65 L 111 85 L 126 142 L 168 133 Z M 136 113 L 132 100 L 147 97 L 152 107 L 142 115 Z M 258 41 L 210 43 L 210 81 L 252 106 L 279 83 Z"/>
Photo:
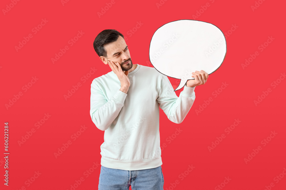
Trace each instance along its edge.
<path fill-rule="evenodd" d="M 192 72 L 204 70 L 209 75 L 223 63 L 227 43 L 215 25 L 195 20 L 164 24 L 153 34 L 149 59 L 160 73 L 181 79 L 174 90 L 181 89 Z"/>

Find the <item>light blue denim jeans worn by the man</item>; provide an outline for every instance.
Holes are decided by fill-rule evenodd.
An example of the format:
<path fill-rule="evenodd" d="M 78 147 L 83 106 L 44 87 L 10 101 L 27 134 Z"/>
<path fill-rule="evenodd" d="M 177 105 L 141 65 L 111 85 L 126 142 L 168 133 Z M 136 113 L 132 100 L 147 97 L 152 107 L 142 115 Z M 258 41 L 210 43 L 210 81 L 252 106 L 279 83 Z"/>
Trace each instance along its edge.
<path fill-rule="evenodd" d="M 112 169 L 101 166 L 99 190 L 163 190 L 162 167 L 141 170 Z"/>

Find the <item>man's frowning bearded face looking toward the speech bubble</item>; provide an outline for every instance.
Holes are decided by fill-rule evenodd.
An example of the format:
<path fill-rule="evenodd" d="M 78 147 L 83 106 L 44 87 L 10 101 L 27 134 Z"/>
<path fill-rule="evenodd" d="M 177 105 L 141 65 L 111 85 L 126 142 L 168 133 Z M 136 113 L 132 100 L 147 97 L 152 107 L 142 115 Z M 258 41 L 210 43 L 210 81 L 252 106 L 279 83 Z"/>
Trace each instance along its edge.
<path fill-rule="evenodd" d="M 129 49 L 122 36 L 119 36 L 115 42 L 105 44 L 104 48 L 107 52 L 107 57 L 100 57 L 104 64 L 108 64 L 107 61 L 112 61 L 114 63 L 118 62 L 122 71 L 128 71 L 132 68 Z"/>

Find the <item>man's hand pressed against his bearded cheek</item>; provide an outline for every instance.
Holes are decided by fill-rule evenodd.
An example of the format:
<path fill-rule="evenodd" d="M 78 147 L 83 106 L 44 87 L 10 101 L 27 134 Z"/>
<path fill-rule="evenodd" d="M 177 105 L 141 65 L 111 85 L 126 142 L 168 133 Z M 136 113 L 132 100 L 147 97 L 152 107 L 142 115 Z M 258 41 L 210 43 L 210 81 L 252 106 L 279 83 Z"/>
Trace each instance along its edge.
<path fill-rule="evenodd" d="M 108 65 L 110 66 L 111 70 L 117 75 L 121 88 L 120 91 L 127 93 L 130 87 L 130 80 L 128 78 L 129 71 L 122 71 L 121 66 L 118 62 L 114 63 L 113 61 L 107 61 Z"/>

